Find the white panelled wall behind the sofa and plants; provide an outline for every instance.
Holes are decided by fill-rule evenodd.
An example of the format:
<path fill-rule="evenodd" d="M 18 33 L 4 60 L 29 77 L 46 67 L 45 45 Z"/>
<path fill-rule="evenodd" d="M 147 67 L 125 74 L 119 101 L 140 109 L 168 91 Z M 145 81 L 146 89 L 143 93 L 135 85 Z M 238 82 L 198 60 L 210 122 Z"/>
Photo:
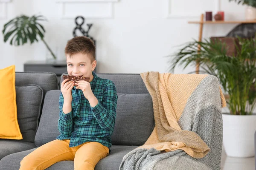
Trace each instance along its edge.
<path fill-rule="evenodd" d="M 65 59 L 64 47 L 73 37 L 74 18 L 82 15 L 86 23 L 93 23 L 90 35 L 97 41 L 98 72 L 162 73 L 168 68 L 164 56 L 173 54 L 178 49 L 175 46 L 198 39 L 199 25 L 188 24 L 188 20 L 199 20 L 206 10 L 215 13 L 218 9 L 225 11 L 226 20 L 244 20 L 245 8 L 228 0 L 66 0 L 69 3 L 64 7 L 56 0 L 5 1 L 9 0 L 0 0 L 0 69 L 14 64 L 16 71 L 23 71 L 28 60 L 47 56 L 43 42 L 18 47 L 3 42 L 3 25 L 19 14 L 47 17 L 48 22 L 41 22 L 47 31 L 45 40 L 58 59 Z M 235 26 L 205 25 L 203 36 L 224 36 Z M 177 68 L 175 73 L 190 71 L 195 67 Z"/>

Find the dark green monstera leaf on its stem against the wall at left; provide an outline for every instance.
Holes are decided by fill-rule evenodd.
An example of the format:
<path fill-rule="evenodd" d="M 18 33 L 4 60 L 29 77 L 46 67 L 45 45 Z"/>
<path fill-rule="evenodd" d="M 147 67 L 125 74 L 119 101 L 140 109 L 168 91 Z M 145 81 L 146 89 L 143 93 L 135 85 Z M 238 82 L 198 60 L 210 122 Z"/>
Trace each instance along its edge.
<path fill-rule="evenodd" d="M 11 45 L 23 45 L 30 41 L 38 42 L 42 40 L 46 45 L 47 49 L 52 54 L 52 57 L 56 59 L 49 45 L 44 40 L 45 29 L 38 21 L 45 21 L 46 19 L 42 15 L 33 15 L 32 17 L 27 17 L 26 15 L 20 15 L 10 20 L 3 26 L 3 38 L 4 42 L 10 39 Z"/>

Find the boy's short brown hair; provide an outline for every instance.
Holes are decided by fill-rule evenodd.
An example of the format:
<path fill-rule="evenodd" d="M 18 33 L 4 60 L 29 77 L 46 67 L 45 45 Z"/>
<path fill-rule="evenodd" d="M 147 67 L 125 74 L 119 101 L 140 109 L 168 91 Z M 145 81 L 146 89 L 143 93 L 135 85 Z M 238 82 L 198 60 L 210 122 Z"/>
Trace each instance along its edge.
<path fill-rule="evenodd" d="M 65 55 L 72 57 L 74 54 L 82 53 L 90 57 L 91 63 L 95 60 L 95 45 L 93 40 L 85 36 L 74 37 L 67 42 Z"/>

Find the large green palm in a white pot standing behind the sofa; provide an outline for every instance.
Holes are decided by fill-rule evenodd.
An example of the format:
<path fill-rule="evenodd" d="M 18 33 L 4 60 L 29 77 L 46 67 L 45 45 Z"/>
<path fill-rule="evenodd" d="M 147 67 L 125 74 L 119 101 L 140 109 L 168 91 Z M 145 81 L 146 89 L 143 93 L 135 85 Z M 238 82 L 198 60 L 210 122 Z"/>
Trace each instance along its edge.
<path fill-rule="evenodd" d="M 171 55 L 170 71 L 177 65 L 201 65 L 201 74 L 218 77 L 224 93 L 228 94 L 223 113 L 224 147 L 228 156 L 254 156 L 254 132 L 256 131 L 256 40 L 240 39 L 236 56 L 227 55 L 227 47 L 221 42 L 194 41 Z M 200 53 L 198 45 L 201 46 Z M 242 127 L 242 128 L 241 128 Z"/>

